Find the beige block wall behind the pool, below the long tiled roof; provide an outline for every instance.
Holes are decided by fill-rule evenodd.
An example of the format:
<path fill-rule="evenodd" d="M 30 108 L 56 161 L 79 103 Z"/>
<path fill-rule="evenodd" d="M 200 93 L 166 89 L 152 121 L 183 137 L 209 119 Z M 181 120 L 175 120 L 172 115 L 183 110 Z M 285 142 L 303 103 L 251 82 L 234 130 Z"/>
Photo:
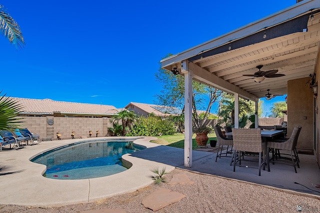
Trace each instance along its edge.
<path fill-rule="evenodd" d="M 53 140 L 56 132 L 59 131 L 62 139 L 70 139 L 71 132 L 75 131 L 75 138 L 88 137 L 89 130 L 92 130 L 92 137 L 95 137 L 96 130 L 99 130 L 99 137 L 108 136 L 107 128 L 112 127 L 108 118 L 70 118 L 70 117 L 22 117 L 22 128 L 27 128 L 32 133 L 37 133 L 40 140 L 49 136 Z M 52 119 L 53 125 L 48 125 L 47 120 Z"/>

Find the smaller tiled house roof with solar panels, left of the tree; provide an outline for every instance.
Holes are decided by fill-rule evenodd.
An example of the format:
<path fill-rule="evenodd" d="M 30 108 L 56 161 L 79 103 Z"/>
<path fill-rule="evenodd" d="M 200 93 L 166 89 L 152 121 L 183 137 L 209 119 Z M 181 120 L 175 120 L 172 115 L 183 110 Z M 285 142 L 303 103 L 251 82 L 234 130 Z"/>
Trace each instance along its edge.
<path fill-rule="evenodd" d="M 178 115 L 181 114 L 182 111 L 176 107 L 168 107 L 168 106 L 161 106 L 155 104 L 143 104 L 143 103 L 135 103 L 130 102 L 124 108 L 128 108 L 130 105 L 138 107 L 139 109 L 145 111 L 146 113 L 150 114 L 153 113 L 155 116 L 168 116 L 168 115 Z"/>

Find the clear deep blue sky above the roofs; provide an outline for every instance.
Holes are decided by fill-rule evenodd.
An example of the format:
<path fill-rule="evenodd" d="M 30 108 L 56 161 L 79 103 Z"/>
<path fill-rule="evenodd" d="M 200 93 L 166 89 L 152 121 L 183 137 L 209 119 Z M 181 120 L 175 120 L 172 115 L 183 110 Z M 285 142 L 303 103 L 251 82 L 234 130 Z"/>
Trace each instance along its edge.
<path fill-rule="evenodd" d="M 25 47 L 0 37 L 3 93 L 124 107 L 154 103 L 160 59 L 227 33 L 296 0 L 2 0 Z M 267 103 L 283 101 L 277 97 Z"/>

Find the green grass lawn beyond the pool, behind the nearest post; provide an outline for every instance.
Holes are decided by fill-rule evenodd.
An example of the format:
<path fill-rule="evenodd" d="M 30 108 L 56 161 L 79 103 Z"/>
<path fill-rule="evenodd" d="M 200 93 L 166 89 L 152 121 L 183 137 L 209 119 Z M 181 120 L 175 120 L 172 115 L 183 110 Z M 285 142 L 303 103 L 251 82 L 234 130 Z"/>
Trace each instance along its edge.
<path fill-rule="evenodd" d="M 216 140 L 215 133 L 208 134 L 208 143 L 210 140 Z M 162 135 L 157 137 L 157 140 L 150 141 L 151 143 L 161 144 L 164 146 L 171 146 L 176 148 L 184 148 L 184 134 L 176 133 L 174 135 Z M 197 148 L 198 145 L 195 142 L 195 134 L 192 135 L 192 149 Z"/>

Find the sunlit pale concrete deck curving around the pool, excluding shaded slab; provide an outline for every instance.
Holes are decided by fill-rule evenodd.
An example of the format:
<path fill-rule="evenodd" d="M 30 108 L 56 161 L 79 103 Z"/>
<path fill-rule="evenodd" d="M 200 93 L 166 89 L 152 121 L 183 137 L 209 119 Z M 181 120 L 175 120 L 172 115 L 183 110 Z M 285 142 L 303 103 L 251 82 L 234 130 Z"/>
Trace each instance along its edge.
<path fill-rule="evenodd" d="M 116 138 L 121 139 L 122 137 Z M 99 137 L 98 139 L 103 138 Z M 105 137 L 105 139 L 115 139 L 115 137 Z M 125 137 L 125 139 L 128 138 Z M 149 143 L 149 140 L 152 139 L 155 138 L 139 137 L 134 143 L 147 148 L 159 146 Z M 160 169 L 165 167 L 168 172 L 174 169 L 173 166 L 127 154 L 123 156 L 123 159 L 129 161 L 132 167 L 124 172 L 93 179 L 54 180 L 42 176 L 46 166 L 29 161 L 36 155 L 52 148 L 87 140 L 96 140 L 96 138 L 41 142 L 19 150 L 0 152 L 0 168 L 2 168 L 0 170 L 2 195 L 0 204 L 47 207 L 89 203 L 148 186 L 153 182 L 151 179 L 153 173 L 150 171 L 152 167 Z"/>

